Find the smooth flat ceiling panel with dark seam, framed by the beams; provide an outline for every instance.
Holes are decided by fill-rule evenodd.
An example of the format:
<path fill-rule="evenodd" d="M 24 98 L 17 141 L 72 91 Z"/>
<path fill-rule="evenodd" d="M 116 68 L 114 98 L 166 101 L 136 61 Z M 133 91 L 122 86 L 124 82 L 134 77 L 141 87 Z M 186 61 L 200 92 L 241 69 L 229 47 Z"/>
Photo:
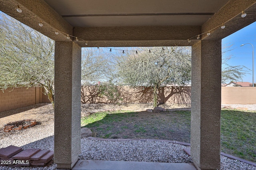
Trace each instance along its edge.
<path fill-rule="evenodd" d="M 201 26 L 228 0 L 45 0 L 73 27 Z"/>

